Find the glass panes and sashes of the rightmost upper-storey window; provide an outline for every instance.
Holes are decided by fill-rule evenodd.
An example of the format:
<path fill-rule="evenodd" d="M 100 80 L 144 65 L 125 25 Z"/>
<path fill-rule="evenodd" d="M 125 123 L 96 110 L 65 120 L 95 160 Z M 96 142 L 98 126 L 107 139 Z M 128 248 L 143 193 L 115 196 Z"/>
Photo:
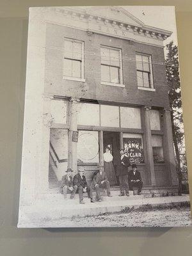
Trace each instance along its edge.
<path fill-rule="evenodd" d="M 154 88 L 152 79 L 151 56 L 136 54 L 136 68 L 139 88 Z M 144 89 L 145 90 L 145 89 Z"/>

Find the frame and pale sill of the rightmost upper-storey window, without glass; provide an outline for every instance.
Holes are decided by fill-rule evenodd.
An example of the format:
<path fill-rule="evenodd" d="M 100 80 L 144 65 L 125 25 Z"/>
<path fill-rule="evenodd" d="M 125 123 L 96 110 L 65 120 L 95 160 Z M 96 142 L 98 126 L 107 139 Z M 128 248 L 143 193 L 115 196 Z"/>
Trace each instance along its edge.
<path fill-rule="evenodd" d="M 137 68 L 137 60 L 136 60 L 136 76 L 137 76 L 137 82 L 138 82 L 138 72 L 142 72 L 142 82 L 143 82 L 143 73 L 148 74 L 148 84 L 149 87 L 145 87 L 145 86 L 139 86 L 138 85 L 138 90 L 146 90 L 146 91 L 152 91 L 152 92 L 156 92 L 156 89 L 154 88 L 154 78 L 153 78 L 153 69 L 152 69 L 152 55 L 151 54 L 146 54 L 146 53 L 142 53 L 142 52 L 136 52 L 136 56 L 141 56 L 142 57 L 142 66 L 143 66 L 143 62 L 145 63 L 145 61 L 143 61 L 143 56 L 148 57 L 148 66 L 149 66 L 149 71 L 145 71 L 145 70 L 141 70 Z"/>

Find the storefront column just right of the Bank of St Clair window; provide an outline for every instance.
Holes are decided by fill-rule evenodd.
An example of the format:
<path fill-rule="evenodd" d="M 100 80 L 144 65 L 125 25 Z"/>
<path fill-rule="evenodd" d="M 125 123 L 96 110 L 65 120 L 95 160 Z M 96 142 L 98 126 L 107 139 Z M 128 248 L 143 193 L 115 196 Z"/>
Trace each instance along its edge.
<path fill-rule="evenodd" d="M 151 107 L 145 106 L 144 108 L 144 117 L 145 117 L 145 136 L 147 142 L 147 158 L 148 158 L 148 167 L 150 170 L 150 181 L 151 185 L 156 185 L 156 177 L 154 171 L 154 158 L 152 152 L 152 137 L 150 130 L 150 109 Z"/>

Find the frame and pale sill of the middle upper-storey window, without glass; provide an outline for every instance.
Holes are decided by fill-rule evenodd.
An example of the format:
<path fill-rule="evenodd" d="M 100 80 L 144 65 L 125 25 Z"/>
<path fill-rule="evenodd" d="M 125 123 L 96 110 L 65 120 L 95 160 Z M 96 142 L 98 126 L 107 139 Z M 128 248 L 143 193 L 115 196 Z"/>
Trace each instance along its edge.
<path fill-rule="evenodd" d="M 108 65 L 108 64 L 102 64 L 101 62 L 101 49 L 105 48 L 105 49 L 112 49 L 115 51 L 118 51 L 118 56 L 119 56 L 119 62 L 120 62 L 120 67 L 116 67 L 115 65 Z M 109 67 L 109 74 L 110 74 L 110 67 L 114 67 L 114 68 L 118 68 L 118 83 L 113 83 L 113 82 L 109 82 L 109 81 L 102 81 L 101 79 L 101 66 L 106 66 Z M 111 77 L 110 77 L 111 79 Z M 115 48 L 115 47 L 110 47 L 110 46 L 106 46 L 106 45 L 100 45 L 100 84 L 104 84 L 104 85 L 111 85 L 111 86 L 117 86 L 117 87 L 125 87 L 124 83 L 123 83 L 123 66 L 122 66 L 122 49 L 120 48 Z"/>

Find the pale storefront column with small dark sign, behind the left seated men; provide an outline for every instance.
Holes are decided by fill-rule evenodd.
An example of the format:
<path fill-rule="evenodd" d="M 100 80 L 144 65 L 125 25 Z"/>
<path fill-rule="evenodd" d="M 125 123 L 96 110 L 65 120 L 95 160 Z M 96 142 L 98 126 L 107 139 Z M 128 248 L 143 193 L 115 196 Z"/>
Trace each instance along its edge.
<path fill-rule="evenodd" d="M 70 99 L 69 124 L 68 132 L 68 167 L 72 168 L 74 174 L 77 173 L 77 141 L 73 140 L 74 132 L 77 132 L 77 118 L 79 111 L 79 99 Z"/>

